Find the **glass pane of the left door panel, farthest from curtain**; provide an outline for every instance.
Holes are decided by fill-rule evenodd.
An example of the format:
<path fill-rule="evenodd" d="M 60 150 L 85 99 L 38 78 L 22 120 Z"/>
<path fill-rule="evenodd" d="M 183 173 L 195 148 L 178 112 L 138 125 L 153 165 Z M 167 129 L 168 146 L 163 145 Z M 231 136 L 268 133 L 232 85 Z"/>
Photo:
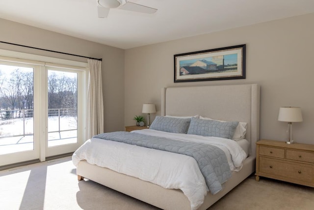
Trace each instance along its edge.
<path fill-rule="evenodd" d="M 0 154 L 33 150 L 33 68 L 0 64 Z"/>

